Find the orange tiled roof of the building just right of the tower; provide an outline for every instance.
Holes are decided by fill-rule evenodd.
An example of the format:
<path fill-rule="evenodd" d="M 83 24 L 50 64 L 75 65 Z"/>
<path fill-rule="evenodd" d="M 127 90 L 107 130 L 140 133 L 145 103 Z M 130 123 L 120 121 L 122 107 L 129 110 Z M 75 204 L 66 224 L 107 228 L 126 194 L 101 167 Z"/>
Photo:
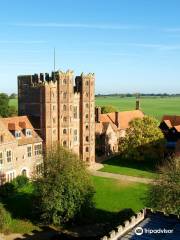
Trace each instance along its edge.
<path fill-rule="evenodd" d="M 140 110 L 118 112 L 119 129 L 127 129 L 129 127 L 129 122 L 131 122 L 135 118 L 143 117 L 144 113 Z M 115 112 L 100 115 L 100 122 L 102 123 L 109 122 L 115 125 L 115 120 L 116 120 Z"/>

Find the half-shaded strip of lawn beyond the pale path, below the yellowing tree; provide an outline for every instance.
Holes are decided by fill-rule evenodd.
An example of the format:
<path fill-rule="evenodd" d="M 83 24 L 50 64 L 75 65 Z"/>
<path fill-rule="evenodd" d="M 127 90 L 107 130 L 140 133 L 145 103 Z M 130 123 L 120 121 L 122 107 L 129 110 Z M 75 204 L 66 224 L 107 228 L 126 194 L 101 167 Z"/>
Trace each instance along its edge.
<path fill-rule="evenodd" d="M 155 167 L 150 164 L 142 162 L 131 162 L 115 156 L 104 163 L 104 168 L 100 169 L 102 172 L 118 173 L 135 177 L 155 178 Z"/>

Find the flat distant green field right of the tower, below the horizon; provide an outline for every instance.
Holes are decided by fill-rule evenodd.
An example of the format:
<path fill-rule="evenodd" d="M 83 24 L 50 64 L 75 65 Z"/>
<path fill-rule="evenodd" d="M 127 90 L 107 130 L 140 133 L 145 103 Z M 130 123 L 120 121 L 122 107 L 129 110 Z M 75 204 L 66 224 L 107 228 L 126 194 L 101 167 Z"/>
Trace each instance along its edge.
<path fill-rule="evenodd" d="M 161 119 L 165 114 L 180 115 L 180 97 L 142 97 L 142 111 L 150 116 Z M 96 105 L 112 105 L 119 111 L 135 109 L 135 97 L 96 97 Z"/>

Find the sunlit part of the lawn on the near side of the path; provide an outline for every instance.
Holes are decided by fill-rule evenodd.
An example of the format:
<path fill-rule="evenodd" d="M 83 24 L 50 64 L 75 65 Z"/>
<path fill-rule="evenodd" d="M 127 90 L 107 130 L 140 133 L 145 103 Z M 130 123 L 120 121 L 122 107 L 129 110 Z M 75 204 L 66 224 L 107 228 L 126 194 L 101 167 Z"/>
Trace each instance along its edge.
<path fill-rule="evenodd" d="M 97 209 L 119 212 L 131 208 L 137 212 L 145 207 L 143 197 L 146 195 L 148 185 L 95 176 L 92 179 L 96 190 Z"/>

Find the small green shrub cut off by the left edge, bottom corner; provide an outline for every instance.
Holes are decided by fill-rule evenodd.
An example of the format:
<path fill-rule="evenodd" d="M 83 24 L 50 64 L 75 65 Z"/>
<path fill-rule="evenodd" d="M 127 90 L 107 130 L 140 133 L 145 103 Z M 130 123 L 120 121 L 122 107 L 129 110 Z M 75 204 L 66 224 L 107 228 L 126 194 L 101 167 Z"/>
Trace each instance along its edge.
<path fill-rule="evenodd" d="M 10 213 L 4 208 L 4 205 L 0 203 L 0 232 L 7 230 L 11 221 Z"/>

